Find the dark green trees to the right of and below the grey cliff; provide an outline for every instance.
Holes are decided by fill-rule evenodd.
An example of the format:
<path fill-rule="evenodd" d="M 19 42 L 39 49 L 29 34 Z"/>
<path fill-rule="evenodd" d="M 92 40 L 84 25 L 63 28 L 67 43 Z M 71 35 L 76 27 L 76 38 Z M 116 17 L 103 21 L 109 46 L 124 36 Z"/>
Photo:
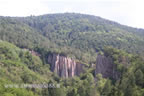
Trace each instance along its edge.
<path fill-rule="evenodd" d="M 104 53 L 113 59 L 120 77 L 115 82 L 110 83 L 113 80 L 109 80 L 104 87 L 100 87 L 99 82 L 103 79 L 99 79 L 101 76 L 98 75 L 97 90 L 104 96 L 143 96 L 143 59 L 111 47 L 105 48 Z"/>

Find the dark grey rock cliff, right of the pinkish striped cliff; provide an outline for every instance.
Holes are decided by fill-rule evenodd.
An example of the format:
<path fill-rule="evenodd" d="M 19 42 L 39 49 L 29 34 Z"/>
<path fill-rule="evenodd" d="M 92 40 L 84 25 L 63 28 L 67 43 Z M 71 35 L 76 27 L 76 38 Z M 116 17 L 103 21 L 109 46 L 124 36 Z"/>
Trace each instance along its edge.
<path fill-rule="evenodd" d="M 110 57 L 98 55 L 96 59 L 95 75 L 102 74 L 104 78 L 118 79 L 119 73 L 116 71 L 116 65 Z"/>

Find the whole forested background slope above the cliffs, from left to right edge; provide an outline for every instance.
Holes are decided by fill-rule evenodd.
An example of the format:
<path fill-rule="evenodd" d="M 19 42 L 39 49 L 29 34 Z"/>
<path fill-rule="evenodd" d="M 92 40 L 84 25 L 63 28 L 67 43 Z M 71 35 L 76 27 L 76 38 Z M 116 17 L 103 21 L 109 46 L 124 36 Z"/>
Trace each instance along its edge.
<path fill-rule="evenodd" d="M 94 62 L 95 58 L 91 57 L 105 46 L 142 52 L 143 32 L 100 17 L 75 13 L 0 17 L 1 40 L 22 48 L 44 48 L 86 63 Z"/>

